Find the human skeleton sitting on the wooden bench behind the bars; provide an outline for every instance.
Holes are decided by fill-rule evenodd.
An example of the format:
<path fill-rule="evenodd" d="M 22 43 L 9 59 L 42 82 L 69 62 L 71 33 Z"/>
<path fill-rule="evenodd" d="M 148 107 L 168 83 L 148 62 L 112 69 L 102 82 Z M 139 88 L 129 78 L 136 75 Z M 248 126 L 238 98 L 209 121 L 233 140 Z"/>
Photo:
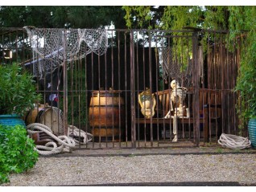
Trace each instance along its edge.
<path fill-rule="evenodd" d="M 184 117 L 184 100 L 186 98 L 186 92 L 188 92 L 187 88 L 180 87 L 180 84 L 176 80 L 171 81 L 171 109 L 167 112 L 167 115 L 164 118 L 173 118 L 173 134 L 175 135 L 172 141 L 178 141 L 177 137 L 177 117 Z M 173 105 L 175 105 L 174 116 L 171 116 L 171 112 L 174 111 Z M 178 107 L 179 106 L 179 107 Z"/>

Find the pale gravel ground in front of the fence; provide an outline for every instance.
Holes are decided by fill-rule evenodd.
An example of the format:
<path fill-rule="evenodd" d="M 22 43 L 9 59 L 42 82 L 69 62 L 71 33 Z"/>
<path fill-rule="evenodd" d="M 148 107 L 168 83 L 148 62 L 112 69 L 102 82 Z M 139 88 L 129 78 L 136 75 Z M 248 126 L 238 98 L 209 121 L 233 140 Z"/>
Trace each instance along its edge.
<path fill-rule="evenodd" d="M 256 154 L 39 157 L 4 186 L 87 186 L 142 182 L 239 182 L 256 186 Z"/>

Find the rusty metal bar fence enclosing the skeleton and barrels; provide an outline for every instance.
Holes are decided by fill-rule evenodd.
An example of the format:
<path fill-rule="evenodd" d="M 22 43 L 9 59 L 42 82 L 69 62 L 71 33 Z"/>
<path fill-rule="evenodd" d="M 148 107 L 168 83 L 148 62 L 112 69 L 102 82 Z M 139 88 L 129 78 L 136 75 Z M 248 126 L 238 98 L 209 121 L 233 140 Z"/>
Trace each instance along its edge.
<path fill-rule="evenodd" d="M 104 55 L 91 52 L 82 58 L 79 52 L 79 59 L 69 61 L 64 56 L 52 62 L 49 73 L 37 76 L 39 64 L 58 57 L 58 50 L 40 57 L 24 29 L 0 30 L 2 52 L 13 53 L 12 59 L 2 56 L 1 63 L 21 63 L 34 72 L 43 96 L 27 114 L 30 121 L 24 117 L 27 124 L 43 123 L 57 135 L 76 138 L 93 134 L 81 149 L 199 146 L 217 143 L 221 133 L 246 137 L 233 92 L 243 39 L 235 39 L 229 51 L 223 31 L 106 32 Z"/>

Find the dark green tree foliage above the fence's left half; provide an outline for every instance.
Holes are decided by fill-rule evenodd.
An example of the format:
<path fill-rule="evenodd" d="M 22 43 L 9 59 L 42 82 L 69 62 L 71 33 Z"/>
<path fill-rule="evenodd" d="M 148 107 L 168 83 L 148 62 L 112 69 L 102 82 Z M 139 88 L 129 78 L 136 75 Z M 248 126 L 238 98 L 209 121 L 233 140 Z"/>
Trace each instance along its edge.
<path fill-rule="evenodd" d="M 1 6 L 1 27 L 126 27 L 122 6 Z"/>

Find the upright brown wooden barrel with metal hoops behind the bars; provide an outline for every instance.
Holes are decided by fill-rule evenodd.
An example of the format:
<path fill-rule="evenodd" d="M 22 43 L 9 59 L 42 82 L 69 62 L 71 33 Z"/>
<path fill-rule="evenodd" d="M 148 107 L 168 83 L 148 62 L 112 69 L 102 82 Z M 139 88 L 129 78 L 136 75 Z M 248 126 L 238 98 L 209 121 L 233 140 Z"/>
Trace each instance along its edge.
<path fill-rule="evenodd" d="M 122 140 L 125 105 L 121 95 L 121 91 L 93 91 L 89 125 L 95 141 Z"/>

